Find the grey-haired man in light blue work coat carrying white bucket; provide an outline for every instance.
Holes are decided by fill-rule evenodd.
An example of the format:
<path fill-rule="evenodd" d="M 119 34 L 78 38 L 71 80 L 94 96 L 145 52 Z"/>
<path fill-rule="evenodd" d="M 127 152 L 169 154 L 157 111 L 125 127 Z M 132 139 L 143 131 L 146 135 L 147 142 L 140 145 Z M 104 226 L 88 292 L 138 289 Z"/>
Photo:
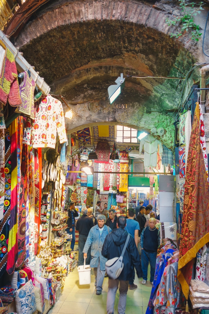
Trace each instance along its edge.
<path fill-rule="evenodd" d="M 102 255 L 102 246 L 106 236 L 112 231 L 105 226 L 105 215 L 97 216 L 97 225 L 91 228 L 86 244 L 83 249 L 83 257 L 87 257 L 89 247 L 91 247 L 90 267 L 94 268 L 96 294 L 102 293 L 102 284 L 105 277 L 105 263 L 107 259 Z"/>

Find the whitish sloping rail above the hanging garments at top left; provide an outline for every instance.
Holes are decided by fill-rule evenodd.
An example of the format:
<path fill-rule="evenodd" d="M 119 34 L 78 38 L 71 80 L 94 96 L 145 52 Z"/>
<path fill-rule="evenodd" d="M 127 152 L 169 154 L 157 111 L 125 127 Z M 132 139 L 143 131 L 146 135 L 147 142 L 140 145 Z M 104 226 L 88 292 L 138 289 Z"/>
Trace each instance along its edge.
<path fill-rule="evenodd" d="M 38 89 L 40 89 L 44 95 L 48 95 L 50 92 L 50 87 L 46 84 L 44 78 L 41 78 L 38 75 L 39 73 L 35 72 L 31 65 L 25 60 L 25 58 L 21 55 L 18 49 L 15 48 L 15 46 L 11 43 L 11 41 L 8 40 L 7 36 L 1 30 L 0 40 L 13 53 L 17 70 L 19 72 L 24 72 L 28 69 Z"/>

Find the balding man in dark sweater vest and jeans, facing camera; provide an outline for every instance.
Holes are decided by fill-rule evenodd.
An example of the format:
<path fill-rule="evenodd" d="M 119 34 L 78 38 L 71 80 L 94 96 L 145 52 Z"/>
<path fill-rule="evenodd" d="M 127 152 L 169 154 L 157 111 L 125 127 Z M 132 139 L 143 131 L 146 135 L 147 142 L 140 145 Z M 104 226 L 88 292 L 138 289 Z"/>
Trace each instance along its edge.
<path fill-rule="evenodd" d="M 160 235 L 159 230 L 156 228 L 156 219 L 149 219 L 149 227 L 145 227 L 141 233 L 141 263 L 142 263 L 142 273 L 143 280 L 142 284 L 147 282 L 147 271 L 148 265 L 150 263 L 150 283 L 153 284 L 154 275 L 155 275 L 155 264 L 158 246 L 160 245 Z"/>

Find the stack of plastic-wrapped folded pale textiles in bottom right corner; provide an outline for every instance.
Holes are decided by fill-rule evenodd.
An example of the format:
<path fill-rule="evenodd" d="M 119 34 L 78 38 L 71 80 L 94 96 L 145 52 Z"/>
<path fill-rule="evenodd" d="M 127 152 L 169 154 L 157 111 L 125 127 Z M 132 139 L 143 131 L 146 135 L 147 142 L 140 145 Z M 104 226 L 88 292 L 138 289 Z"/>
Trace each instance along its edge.
<path fill-rule="evenodd" d="M 203 281 L 197 279 L 191 280 L 190 300 L 193 309 L 197 307 L 209 308 L 209 286 Z"/>

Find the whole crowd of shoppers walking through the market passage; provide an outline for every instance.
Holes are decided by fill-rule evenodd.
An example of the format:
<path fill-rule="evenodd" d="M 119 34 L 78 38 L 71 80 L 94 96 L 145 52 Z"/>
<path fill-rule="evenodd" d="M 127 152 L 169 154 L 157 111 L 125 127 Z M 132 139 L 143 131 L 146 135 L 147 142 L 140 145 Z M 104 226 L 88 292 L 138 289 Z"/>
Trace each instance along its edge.
<path fill-rule="evenodd" d="M 75 204 L 70 203 L 68 210 L 67 232 L 72 234 L 71 248 L 75 244 L 75 228 L 78 237 L 78 265 L 90 265 L 94 269 L 96 295 L 102 293 L 105 277 L 105 263 L 115 257 L 120 257 L 127 240 L 127 247 L 123 256 L 124 267 L 117 279 L 108 279 L 107 314 L 114 313 L 116 291 L 119 288 L 120 297 L 118 313 L 124 314 L 126 309 L 126 296 L 129 289 L 137 289 L 134 284 L 135 269 L 137 277 L 142 277 L 142 284 L 147 282 L 148 264 L 150 263 L 150 283 L 153 284 L 157 250 L 159 246 L 159 230 L 156 228 L 156 213 L 152 205 L 137 206 L 127 210 L 127 216 L 116 217 L 115 209 L 108 210 L 108 218 L 103 215 L 98 201 L 93 210 L 89 206 L 82 208 L 82 216 L 75 224 L 78 212 Z M 143 205 L 143 202 L 140 202 Z M 137 214 L 137 217 L 136 217 Z M 129 239 L 127 236 L 129 235 Z M 141 257 L 140 257 L 141 255 Z"/>

